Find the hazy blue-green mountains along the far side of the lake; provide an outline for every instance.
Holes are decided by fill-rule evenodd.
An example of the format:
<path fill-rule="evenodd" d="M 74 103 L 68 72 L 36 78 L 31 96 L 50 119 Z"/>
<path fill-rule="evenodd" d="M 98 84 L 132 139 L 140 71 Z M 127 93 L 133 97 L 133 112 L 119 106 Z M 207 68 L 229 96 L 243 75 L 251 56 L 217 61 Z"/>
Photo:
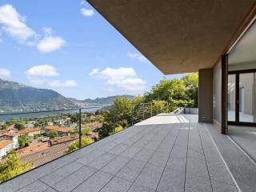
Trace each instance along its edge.
<path fill-rule="evenodd" d="M 106 98 L 78 100 L 66 98 L 54 90 L 38 89 L 0 78 L 0 113 L 64 110 L 88 105 L 108 105 L 114 98 L 118 97 L 133 98 L 134 96 L 115 95 Z"/>

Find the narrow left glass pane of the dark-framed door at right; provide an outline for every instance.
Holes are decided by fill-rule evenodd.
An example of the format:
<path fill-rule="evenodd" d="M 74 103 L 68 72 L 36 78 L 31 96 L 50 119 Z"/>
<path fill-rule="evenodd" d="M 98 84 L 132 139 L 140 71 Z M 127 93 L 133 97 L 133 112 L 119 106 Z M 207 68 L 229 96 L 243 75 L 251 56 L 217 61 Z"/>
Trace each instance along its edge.
<path fill-rule="evenodd" d="M 235 74 L 228 75 L 228 121 L 234 122 L 235 121 Z"/>

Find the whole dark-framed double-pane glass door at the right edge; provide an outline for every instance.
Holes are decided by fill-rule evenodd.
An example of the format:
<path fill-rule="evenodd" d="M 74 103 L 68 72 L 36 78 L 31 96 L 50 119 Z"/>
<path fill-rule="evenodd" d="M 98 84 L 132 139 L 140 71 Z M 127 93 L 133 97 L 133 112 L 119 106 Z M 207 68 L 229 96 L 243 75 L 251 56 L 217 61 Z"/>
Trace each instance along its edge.
<path fill-rule="evenodd" d="M 230 71 L 228 75 L 228 121 L 256 126 L 256 71 Z"/>

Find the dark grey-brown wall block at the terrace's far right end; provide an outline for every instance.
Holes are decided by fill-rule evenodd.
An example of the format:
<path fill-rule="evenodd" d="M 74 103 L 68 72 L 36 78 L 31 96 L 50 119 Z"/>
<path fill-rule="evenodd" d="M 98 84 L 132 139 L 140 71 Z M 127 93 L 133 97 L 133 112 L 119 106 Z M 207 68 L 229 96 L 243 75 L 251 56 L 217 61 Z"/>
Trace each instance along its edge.
<path fill-rule="evenodd" d="M 213 69 L 199 70 L 198 122 L 213 122 Z"/>

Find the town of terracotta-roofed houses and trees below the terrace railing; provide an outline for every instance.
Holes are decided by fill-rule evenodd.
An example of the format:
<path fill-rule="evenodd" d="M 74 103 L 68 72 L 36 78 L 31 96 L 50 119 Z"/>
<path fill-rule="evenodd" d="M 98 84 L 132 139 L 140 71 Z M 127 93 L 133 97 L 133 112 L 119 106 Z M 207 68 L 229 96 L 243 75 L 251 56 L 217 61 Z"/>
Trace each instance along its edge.
<path fill-rule="evenodd" d="M 97 141 L 102 121 L 102 114 L 82 113 L 82 137 Z M 78 113 L 12 118 L 0 122 L 0 159 L 16 150 L 23 162 L 41 166 L 68 153 L 76 141 Z"/>

